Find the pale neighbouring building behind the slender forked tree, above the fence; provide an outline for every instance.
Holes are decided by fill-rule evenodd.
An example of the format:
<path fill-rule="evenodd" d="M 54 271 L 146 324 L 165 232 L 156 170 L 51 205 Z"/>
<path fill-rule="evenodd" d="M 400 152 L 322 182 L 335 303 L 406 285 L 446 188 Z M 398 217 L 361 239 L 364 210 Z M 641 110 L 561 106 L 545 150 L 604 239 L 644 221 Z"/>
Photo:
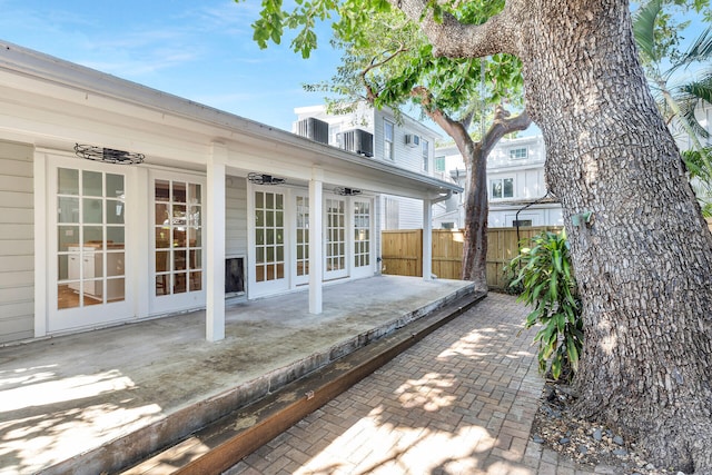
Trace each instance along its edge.
<path fill-rule="evenodd" d="M 437 166 L 464 188 L 466 170 L 457 147 L 438 148 L 435 156 Z M 511 227 L 517 220 L 520 226 L 563 226 L 561 205 L 546 195 L 545 160 L 541 136 L 500 140 L 487 158 L 488 227 Z M 448 201 L 445 212 L 433 215 L 434 228 L 464 226 L 464 196 Z"/>

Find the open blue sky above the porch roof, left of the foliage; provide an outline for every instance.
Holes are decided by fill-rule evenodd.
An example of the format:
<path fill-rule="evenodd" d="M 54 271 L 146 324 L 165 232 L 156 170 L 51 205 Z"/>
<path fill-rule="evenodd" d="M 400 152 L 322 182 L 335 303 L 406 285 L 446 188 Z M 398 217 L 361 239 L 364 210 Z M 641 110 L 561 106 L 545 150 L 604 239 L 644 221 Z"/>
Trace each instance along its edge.
<path fill-rule="evenodd" d="M 303 83 L 340 58 L 319 38 L 310 59 L 260 50 L 247 0 L 0 0 L 0 38 L 248 119 L 289 130 L 294 108 L 323 102 Z M 328 31 L 328 30 L 327 30 Z"/>

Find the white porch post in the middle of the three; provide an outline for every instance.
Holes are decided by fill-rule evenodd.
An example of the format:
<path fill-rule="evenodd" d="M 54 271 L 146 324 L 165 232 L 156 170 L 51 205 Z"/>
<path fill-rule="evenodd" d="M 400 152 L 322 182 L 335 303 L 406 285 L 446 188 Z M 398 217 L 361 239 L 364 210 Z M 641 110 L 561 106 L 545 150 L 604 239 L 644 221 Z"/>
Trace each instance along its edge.
<path fill-rule="evenodd" d="M 313 170 L 309 180 L 309 314 L 322 313 L 322 281 L 324 280 L 322 170 Z"/>

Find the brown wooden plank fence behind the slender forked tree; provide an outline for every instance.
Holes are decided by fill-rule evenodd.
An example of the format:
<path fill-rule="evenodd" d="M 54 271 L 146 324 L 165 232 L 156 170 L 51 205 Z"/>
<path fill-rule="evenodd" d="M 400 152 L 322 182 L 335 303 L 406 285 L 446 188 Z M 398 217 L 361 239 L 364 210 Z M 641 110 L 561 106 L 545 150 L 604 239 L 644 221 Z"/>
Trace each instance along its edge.
<path fill-rule="evenodd" d="M 561 227 L 520 228 L 520 239 L 535 236 L 543 230 L 560 232 Z M 463 260 L 463 232 L 449 229 L 433 229 L 433 274 L 443 279 L 459 279 Z M 487 285 L 504 288 L 502 268 L 518 251 L 516 228 L 491 228 L 487 230 Z M 386 230 L 382 232 L 384 274 L 398 276 L 423 276 L 423 229 Z"/>

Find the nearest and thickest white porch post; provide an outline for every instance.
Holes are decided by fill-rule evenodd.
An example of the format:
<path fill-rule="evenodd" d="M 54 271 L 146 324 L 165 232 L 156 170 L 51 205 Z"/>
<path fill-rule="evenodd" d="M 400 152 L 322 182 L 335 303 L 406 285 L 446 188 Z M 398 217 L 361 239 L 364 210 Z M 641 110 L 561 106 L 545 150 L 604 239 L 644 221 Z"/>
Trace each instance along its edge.
<path fill-rule="evenodd" d="M 227 150 L 212 144 L 207 164 L 205 330 L 208 342 L 225 338 L 225 164 Z"/>

